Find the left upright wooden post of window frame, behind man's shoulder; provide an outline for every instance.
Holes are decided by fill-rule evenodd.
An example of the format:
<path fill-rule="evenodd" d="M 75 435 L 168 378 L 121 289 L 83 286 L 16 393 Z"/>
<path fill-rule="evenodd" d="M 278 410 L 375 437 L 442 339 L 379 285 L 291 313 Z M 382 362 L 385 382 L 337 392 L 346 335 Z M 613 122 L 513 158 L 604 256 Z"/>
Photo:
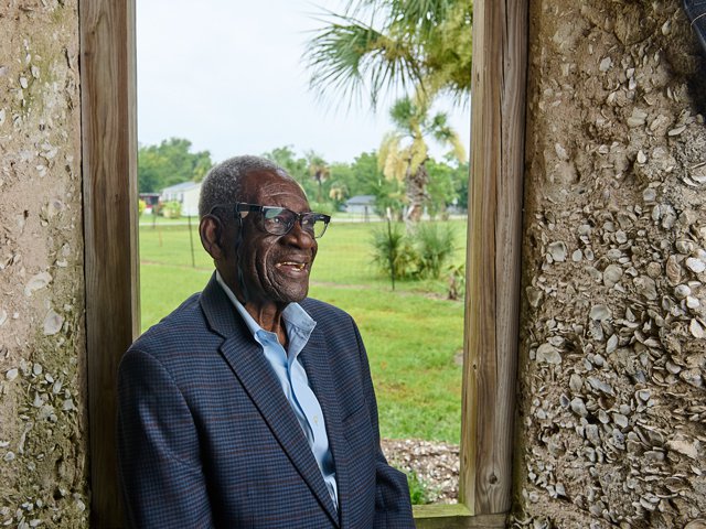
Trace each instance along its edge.
<path fill-rule="evenodd" d="M 90 527 L 121 527 L 116 374 L 139 332 L 135 0 L 81 0 Z"/>

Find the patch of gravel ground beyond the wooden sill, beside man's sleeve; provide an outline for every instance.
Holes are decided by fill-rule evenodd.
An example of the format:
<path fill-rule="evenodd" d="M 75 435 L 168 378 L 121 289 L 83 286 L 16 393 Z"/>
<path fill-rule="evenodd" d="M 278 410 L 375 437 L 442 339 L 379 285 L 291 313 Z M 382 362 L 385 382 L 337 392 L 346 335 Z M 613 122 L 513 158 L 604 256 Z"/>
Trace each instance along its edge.
<path fill-rule="evenodd" d="M 382 440 L 389 463 L 414 471 L 435 504 L 456 504 L 459 495 L 459 446 L 416 439 Z"/>

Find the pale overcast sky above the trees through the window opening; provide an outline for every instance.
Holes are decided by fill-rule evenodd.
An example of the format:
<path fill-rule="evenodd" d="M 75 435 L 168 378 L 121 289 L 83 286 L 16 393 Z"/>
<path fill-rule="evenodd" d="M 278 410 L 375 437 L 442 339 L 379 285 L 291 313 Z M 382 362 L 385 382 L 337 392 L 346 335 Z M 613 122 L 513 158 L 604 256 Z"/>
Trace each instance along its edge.
<path fill-rule="evenodd" d="M 387 109 L 346 111 L 308 89 L 302 54 L 339 0 L 137 0 L 138 140 L 186 138 L 214 161 L 292 145 L 329 162 L 376 150 Z M 469 144 L 470 110 L 451 110 Z M 432 147 L 432 155 L 443 150 Z"/>

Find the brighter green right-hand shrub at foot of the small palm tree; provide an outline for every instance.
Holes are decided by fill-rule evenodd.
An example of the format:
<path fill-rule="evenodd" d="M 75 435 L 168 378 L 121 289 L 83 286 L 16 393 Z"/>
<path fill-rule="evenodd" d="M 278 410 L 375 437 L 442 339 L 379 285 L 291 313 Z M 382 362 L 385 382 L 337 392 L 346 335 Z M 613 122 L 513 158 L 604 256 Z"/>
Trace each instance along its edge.
<path fill-rule="evenodd" d="M 448 224 L 419 223 L 413 233 L 417 249 L 417 273 L 424 279 L 439 279 L 453 258 L 453 230 Z"/>

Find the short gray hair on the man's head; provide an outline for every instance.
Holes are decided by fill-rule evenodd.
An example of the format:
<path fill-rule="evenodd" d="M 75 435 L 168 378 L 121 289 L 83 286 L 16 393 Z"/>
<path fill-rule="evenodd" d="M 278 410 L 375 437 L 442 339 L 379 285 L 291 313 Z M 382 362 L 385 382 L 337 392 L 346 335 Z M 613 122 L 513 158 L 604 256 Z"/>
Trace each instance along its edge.
<path fill-rule="evenodd" d="M 243 177 L 250 171 L 271 171 L 296 182 L 275 162 L 260 156 L 235 156 L 214 165 L 203 179 L 199 198 L 199 216 L 207 215 L 216 204 L 244 202 Z"/>

